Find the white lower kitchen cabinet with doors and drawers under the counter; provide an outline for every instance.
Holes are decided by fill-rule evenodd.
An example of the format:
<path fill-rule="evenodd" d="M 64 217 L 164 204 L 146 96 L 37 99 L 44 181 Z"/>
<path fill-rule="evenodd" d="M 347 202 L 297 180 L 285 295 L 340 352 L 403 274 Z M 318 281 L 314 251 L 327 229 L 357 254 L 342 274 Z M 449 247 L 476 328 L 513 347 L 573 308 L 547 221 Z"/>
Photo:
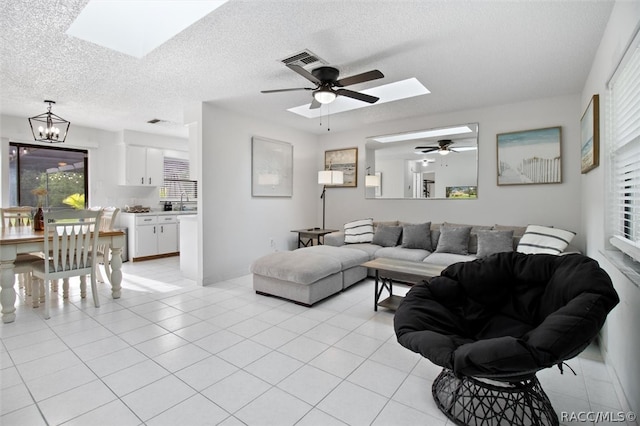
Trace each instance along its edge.
<path fill-rule="evenodd" d="M 129 256 L 134 260 L 177 255 L 176 214 L 122 213 L 121 226 L 128 228 Z"/>

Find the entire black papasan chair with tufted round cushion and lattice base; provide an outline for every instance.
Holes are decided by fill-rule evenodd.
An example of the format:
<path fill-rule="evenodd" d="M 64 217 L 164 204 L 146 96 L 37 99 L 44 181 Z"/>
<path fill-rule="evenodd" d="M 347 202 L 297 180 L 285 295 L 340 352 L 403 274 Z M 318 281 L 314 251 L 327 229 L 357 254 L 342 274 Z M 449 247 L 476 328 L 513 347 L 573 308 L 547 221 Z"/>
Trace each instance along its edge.
<path fill-rule="evenodd" d="M 414 286 L 394 326 L 443 367 L 433 398 L 456 424 L 557 425 L 536 372 L 582 352 L 618 302 L 589 257 L 498 253 Z"/>

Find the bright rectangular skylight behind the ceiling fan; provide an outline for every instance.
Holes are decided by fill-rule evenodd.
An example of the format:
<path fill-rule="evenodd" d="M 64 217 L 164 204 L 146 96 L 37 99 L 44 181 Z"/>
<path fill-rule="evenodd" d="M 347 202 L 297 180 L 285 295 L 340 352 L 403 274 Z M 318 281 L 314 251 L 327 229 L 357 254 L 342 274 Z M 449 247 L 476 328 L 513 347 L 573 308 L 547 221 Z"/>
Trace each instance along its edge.
<path fill-rule="evenodd" d="M 337 114 L 339 112 L 350 111 L 353 109 L 364 108 L 374 105 L 384 104 L 386 102 L 397 101 L 400 99 L 412 98 L 414 96 L 426 95 L 431 93 L 416 78 L 409 78 L 395 83 L 384 84 L 378 87 L 372 87 L 367 90 L 358 90 L 358 92 L 380 98 L 375 104 L 358 101 L 356 99 L 347 98 L 346 96 L 338 96 L 335 101 L 328 106 L 321 108 L 309 109 L 310 104 L 289 108 L 287 111 L 301 115 L 307 118 L 317 118 L 323 114 Z"/>

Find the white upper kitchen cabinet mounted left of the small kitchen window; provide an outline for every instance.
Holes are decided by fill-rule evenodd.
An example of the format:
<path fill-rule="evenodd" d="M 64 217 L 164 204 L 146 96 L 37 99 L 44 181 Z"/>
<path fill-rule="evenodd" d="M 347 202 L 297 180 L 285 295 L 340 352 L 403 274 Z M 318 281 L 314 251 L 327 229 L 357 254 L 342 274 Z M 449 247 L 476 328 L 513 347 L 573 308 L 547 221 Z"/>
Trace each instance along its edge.
<path fill-rule="evenodd" d="M 162 150 L 143 146 L 126 145 L 123 149 L 123 185 L 160 186 L 163 182 Z"/>

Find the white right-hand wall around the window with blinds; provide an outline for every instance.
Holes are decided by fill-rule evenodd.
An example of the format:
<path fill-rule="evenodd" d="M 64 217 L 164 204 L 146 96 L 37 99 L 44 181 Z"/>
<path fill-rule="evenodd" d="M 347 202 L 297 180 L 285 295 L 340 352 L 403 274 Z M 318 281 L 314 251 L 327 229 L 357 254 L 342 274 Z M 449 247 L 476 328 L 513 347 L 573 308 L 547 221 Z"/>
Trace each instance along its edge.
<path fill-rule="evenodd" d="M 606 127 L 608 102 L 606 83 L 612 76 L 635 30 L 640 26 L 640 1 L 616 2 L 598 53 L 582 92 L 580 111 L 594 94 L 600 96 L 600 166 L 581 177 L 581 211 L 586 253 L 609 273 L 620 296 L 620 304 L 607 319 L 601 343 L 606 360 L 618 377 L 631 409 L 640 412 L 640 289 L 629 281 L 602 254 L 606 245 L 606 188 L 610 140 Z"/>

